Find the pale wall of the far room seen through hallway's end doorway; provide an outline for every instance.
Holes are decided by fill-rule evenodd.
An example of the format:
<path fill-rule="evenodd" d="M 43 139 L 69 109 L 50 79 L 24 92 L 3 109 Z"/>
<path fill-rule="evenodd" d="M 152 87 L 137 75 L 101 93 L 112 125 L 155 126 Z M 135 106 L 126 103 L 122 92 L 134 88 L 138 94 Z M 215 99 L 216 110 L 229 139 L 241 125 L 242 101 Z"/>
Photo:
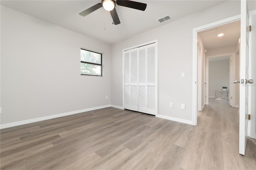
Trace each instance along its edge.
<path fill-rule="evenodd" d="M 215 97 L 215 90 L 229 87 L 229 60 L 209 61 L 209 97 Z M 229 89 L 228 89 L 229 90 Z"/>

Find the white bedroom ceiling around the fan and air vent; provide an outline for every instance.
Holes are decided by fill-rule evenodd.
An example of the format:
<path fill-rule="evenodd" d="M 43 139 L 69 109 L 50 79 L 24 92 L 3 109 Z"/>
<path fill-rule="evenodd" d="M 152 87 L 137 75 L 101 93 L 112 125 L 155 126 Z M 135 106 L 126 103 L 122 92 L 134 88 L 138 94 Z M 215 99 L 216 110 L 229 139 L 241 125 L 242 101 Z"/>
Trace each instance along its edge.
<path fill-rule="evenodd" d="M 3 6 L 40 18 L 52 24 L 113 44 L 136 34 L 178 20 L 184 16 L 216 6 L 226 0 L 134 0 L 147 4 L 145 11 L 116 6 L 121 24 L 113 25 L 110 13 L 100 8 L 88 16 L 83 10 L 101 0 L 1 0 Z M 170 15 L 171 20 L 158 19 Z"/>

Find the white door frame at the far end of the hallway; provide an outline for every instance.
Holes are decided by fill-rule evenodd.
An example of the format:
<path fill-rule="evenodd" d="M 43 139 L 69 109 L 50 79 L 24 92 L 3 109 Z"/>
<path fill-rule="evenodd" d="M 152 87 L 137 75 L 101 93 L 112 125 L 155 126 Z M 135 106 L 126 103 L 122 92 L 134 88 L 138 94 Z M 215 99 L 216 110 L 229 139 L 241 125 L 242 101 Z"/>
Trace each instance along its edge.
<path fill-rule="evenodd" d="M 209 58 L 213 57 L 224 57 L 224 56 L 230 56 L 230 67 L 229 67 L 229 75 L 232 75 L 229 79 L 230 84 L 230 92 L 229 92 L 229 100 L 232 101 L 231 106 L 235 107 L 236 101 L 236 89 L 234 88 L 233 80 L 236 79 L 236 53 L 226 53 L 226 54 L 219 54 L 219 55 L 210 55 L 206 56 L 206 103 L 208 105 L 208 98 L 209 98 Z M 231 99 L 232 97 L 232 99 Z"/>

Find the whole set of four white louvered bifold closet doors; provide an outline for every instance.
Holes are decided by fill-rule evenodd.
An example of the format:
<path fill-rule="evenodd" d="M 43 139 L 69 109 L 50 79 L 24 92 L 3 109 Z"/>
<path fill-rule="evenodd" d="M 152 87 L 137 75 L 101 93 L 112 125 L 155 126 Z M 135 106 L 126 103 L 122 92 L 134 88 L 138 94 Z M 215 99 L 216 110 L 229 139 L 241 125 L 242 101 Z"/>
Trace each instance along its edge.
<path fill-rule="evenodd" d="M 123 50 L 124 109 L 157 114 L 157 43 Z"/>

